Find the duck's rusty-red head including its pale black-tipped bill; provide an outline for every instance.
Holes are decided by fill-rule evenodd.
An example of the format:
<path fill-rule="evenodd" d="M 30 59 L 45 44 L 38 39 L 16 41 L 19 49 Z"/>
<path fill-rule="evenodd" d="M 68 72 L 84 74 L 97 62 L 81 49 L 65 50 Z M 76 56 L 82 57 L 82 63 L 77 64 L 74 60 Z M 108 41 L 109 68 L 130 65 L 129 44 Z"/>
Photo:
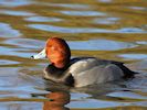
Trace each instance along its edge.
<path fill-rule="evenodd" d="M 48 57 L 56 68 L 64 68 L 70 63 L 71 51 L 67 43 L 59 37 L 50 37 L 39 54 L 31 56 L 34 59 Z"/>

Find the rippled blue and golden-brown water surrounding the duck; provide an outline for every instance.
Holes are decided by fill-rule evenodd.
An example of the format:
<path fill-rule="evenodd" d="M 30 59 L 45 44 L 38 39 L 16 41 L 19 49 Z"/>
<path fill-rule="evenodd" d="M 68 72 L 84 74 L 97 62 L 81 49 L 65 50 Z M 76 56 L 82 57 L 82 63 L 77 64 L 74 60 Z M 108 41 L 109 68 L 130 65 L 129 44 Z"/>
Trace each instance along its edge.
<path fill-rule="evenodd" d="M 30 56 L 50 36 L 65 38 L 72 56 L 125 62 L 141 74 L 76 89 L 46 82 L 49 62 Z M 0 110 L 146 110 L 146 0 L 0 0 Z"/>

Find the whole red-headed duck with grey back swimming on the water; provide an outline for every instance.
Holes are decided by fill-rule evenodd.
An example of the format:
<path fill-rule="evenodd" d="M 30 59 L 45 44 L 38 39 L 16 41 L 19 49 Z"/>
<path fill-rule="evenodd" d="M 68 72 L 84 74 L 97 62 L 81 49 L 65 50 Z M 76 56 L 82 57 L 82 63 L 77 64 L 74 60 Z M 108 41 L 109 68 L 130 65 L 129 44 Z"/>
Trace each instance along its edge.
<path fill-rule="evenodd" d="M 33 59 L 48 58 L 50 64 L 43 69 L 43 78 L 71 87 L 105 84 L 113 80 L 134 78 L 136 72 L 124 63 L 97 57 L 73 57 L 65 40 L 49 37 L 45 47 Z"/>

